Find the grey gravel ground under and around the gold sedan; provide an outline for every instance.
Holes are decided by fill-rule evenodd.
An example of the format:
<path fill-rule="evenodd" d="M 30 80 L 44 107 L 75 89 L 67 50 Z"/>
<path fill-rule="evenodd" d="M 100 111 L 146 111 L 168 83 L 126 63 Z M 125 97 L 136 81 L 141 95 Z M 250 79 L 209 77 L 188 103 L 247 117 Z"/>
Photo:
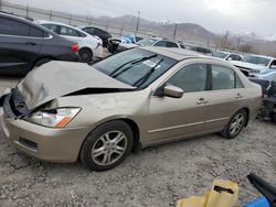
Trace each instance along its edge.
<path fill-rule="evenodd" d="M 18 78 L 1 77 L 0 94 Z M 276 126 L 252 121 L 235 140 L 205 135 L 146 149 L 96 173 L 79 163 L 45 163 L 17 152 L 0 131 L 0 206 L 176 206 L 201 195 L 215 177 L 240 185 L 240 200 L 259 196 L 254 172 L 276 185 Z"/>

